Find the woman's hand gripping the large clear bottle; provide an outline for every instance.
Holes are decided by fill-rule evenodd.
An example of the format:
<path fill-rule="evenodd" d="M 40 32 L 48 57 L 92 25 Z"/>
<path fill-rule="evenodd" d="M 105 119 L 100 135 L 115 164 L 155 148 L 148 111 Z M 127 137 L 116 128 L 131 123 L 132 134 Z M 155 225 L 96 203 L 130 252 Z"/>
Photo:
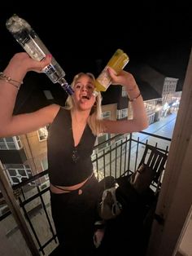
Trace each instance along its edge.
<path fill-rule="evenodd" d="M 23 72 L 35 71 L 41 73 L 42 69 L 50 64 L 51 55 L 46 55 L 46 58 L 41 61 L 33 60 L 26 52 L 16 53 L 10 63 L 10 68 L 20 68 Z"/>

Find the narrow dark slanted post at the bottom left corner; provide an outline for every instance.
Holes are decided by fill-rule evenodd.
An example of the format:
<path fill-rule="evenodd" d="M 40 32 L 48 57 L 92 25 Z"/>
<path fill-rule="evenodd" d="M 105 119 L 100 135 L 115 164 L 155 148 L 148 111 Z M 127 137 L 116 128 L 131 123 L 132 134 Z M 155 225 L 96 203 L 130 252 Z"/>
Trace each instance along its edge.
<path fill-rule="evenodd" d="M 1 166 L 0 166 L 0 189 L 2 192 L 2 196 L 7 202 L 7 205 L 9 206 L 9 209 L 11 210 L 11 213 L 15 218 L 15 221 L 18 224 L 18 227 L 20 228 L 20 232 L 24 236 L 24 241 L 26 241 L 26 244 L 28 245 L 28 249 L 31 251 L 31 254 L 33 256 L 40 256 L 37 246 L 33 241 L 33 237 L 31 233 L 28 231 L 28 226 L 24 220 L 24 217 L 20 212 L 20 207 L 17 201 L 15 200 L 15 196 L 11 188 L 11 184 L 7 181 L 7 178 Z"/>

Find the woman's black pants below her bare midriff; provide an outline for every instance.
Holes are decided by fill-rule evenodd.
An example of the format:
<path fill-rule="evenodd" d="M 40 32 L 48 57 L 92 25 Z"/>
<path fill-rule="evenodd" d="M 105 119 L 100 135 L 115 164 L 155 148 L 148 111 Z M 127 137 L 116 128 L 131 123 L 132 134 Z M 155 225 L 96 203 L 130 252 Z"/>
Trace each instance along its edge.
<path fill-rule="evenodd" d="M 50 192 L 52 217 L 59 244 L 70 255 L 92 255 L 94 223 L 98 220 L 98 180 L 93 176 L 79 191 Z M 66 255 L 68 255 L 66 254 Z"/>

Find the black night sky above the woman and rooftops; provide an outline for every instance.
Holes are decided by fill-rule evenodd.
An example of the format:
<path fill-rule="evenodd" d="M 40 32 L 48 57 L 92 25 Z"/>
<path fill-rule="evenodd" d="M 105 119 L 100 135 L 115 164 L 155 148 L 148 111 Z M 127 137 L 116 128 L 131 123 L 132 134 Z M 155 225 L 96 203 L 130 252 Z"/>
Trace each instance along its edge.
<path fill-rule="evenodd" d="M 40 2 L 40 1 L 39 1 Z M 130 58 L 129 64 L 151 61 L 159 66 L 186 65 L 191 47 L 191 8 L 185 2 L 174 6 L 147 2 L 41 1 L 4 2 L 0 10 L 1 66 L 17 51 L 23 51 L 5 27 L 14 13 L 28 21 L 63 67 L 70 80 L 78 72 L 104 68 L 117 48 Z M 61 3 L 62 2 L 62 7 Z M 100 60 L 100 62 L 98 61 Z M 100 63 L 100 66 L 98 65 Z"/>

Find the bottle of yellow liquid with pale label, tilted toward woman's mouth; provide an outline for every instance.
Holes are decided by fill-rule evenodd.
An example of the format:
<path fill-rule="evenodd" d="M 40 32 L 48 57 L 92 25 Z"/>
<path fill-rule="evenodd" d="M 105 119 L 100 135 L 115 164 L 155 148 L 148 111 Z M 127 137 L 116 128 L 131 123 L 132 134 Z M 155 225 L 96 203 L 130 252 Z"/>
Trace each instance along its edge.
<path fill-rule="evenodd" d="M 124 53 L 124 51 L 117 49 L 111 59 L 108 61 L 106 67 L 103 69 L 102 73 L 95 80 L 95 91 L 94 95 L 98 94 L 98 91 L 107 90 L 108 86 L 111 85 L 111 78 L 107 72 L 107 67 L 113 68 L 116 73 L 120 73 L 126 64 L 129 62 L 129 56 Z"/>

